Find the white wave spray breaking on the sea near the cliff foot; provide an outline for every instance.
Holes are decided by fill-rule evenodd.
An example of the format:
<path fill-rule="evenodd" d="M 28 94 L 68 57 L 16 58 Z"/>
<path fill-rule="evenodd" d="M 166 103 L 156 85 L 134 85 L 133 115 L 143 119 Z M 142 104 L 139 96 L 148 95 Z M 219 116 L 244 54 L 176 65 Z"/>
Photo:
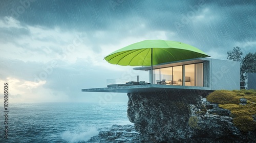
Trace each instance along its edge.
<path fill-rule="evenodd" d="M 98 135 L 99 131 L 95 127 L 90 127 L 83 131 L 65 131 L 61 138 L 70 143 L 88 141 L 92 136 Z"/>

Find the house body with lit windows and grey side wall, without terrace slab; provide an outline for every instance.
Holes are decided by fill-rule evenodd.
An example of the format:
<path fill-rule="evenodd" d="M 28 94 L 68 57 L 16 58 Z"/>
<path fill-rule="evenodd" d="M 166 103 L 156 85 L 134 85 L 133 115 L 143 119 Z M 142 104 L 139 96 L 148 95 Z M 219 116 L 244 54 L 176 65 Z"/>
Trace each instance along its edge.
<path fill-rule="evenodd" d="M 153 84 L 189 86 L 196 89 L 240 89 L 240 62 L 211 58 L 196 58 L 153 66 L 135 67 L 153 74 Z"/>

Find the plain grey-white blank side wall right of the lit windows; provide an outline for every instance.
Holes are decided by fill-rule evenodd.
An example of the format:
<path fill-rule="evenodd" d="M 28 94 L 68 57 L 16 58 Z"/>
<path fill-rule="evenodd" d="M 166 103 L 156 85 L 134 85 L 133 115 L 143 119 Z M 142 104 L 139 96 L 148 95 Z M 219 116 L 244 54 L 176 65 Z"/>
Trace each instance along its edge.
<path fill-rule="evenodd" d="M 210 66 L 212 90 L 240 89 L 240 62 L 210 59 Z"/>

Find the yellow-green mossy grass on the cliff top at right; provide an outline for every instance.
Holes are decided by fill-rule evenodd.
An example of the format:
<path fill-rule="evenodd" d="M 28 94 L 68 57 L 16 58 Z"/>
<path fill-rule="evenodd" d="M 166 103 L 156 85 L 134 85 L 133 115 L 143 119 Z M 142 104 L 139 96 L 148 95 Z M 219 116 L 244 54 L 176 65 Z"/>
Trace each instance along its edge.
<path fill-rule="evenodd" d="M 240 99 L 247 100 L 246 105 L 240 105 Z M 207 101 L 219 104 L 219 107 L 231 111 L 233 124 L 241 131 L 256 130 L 256 122 L 252 115 L 256 114 L 256 90 L 216 90 L 206 97 Z"/>

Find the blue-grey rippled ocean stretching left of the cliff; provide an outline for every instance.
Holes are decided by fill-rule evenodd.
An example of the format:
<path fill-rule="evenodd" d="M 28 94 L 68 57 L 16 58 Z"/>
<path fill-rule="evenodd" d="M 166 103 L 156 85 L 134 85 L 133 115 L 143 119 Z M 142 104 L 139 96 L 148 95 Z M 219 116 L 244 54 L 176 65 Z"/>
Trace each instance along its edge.
<path fill-rule="evenodd" d="M 0 142 L 84 142 L 101 129 L 132 124 L 127 103 L 10 103 L 8 139 L 4 138 L 4 110 Z M 3 107 L 4 108 L 4 107 Z"/>

